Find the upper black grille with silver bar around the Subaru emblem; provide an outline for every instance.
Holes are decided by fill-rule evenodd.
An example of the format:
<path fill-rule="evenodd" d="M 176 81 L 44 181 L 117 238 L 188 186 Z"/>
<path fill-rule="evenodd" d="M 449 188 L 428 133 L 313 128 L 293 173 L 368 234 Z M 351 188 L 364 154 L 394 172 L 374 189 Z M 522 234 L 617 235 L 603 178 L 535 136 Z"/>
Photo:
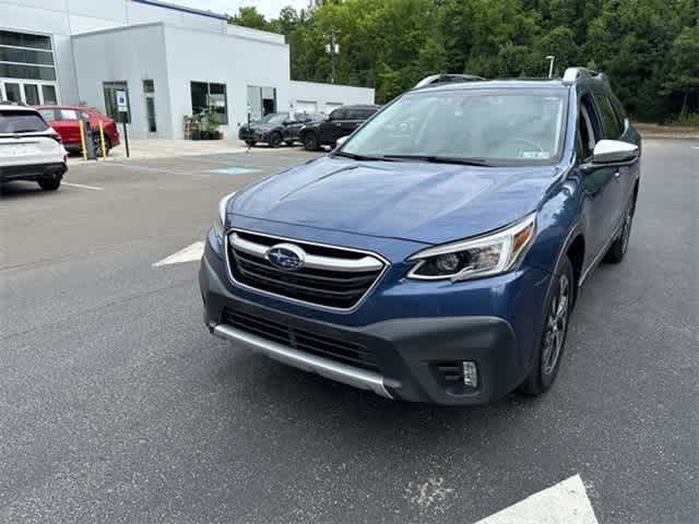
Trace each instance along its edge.
<path fill-rule="evenodd" d="M 228 238 L 230 272 L 238 283 L 318 306 L 352 309 L 386 269 L 367 253 L 294 241 L 308 262 L 298 271 L 288 271 L 265 257 L 269 248 L 287 240 L 247 231 L 234 231 Z"/>

